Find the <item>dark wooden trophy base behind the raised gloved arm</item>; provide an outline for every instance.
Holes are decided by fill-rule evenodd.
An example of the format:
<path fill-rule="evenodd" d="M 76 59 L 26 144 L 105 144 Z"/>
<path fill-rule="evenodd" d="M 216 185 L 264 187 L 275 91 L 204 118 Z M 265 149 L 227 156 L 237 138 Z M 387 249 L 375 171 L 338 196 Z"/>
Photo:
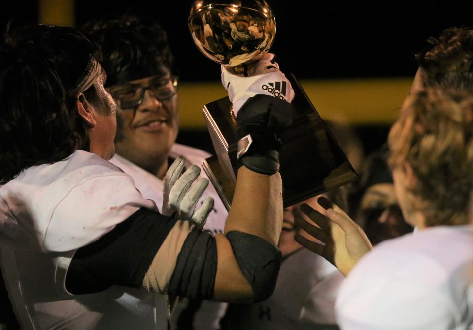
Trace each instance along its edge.
<path fill-rule="evenodd" d="M 288 76 L 295 92 L 291 103 L 294 122 L 282 133 L 279 152 L 283 186 L 283 205 L 288 207 L 338 188 L 357 179 L 327 125 L 315 110 L 299 82 Z M 203 108 L 216 157 L 206 159 L 203 168 L 227 209 L 232 204 L 236 185 L 236 120 L 228 97 Z"/>

